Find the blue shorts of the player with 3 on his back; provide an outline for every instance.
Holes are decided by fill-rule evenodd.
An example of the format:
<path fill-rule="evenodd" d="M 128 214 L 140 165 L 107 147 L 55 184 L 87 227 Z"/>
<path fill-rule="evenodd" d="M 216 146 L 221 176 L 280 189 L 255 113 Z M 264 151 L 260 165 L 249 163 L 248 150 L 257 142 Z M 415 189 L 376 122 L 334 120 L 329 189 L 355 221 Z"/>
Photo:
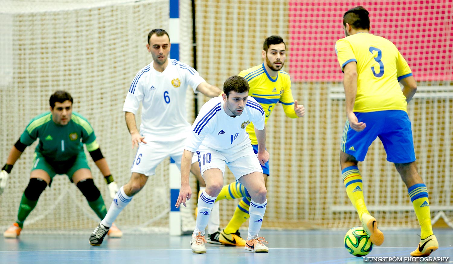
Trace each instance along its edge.
<path fill-rule="evenodd" d="M 355 114 L 359 122 L 366 123 L 366 127 L 363 131 L 356 132 L 346 120 L 341 151 L 354 156 L 358 161 L 363 161 L 368 147 L 376 137 L 379 137 L 386 150 L 388 161 L 393 163 L 415 161 L 411 123 L 405 111 L 386 110 L 369 113 L 355 112 Z"/>

